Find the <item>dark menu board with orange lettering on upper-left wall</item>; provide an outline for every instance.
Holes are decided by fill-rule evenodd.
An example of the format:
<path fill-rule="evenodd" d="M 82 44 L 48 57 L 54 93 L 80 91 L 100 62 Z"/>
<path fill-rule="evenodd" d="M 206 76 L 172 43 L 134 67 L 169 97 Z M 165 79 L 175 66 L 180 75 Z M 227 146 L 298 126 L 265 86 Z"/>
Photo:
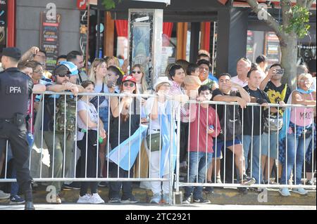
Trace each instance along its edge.
<path fill-rule="evenodd" d="M 41 12 L 40 48 L 46 51 L 46 70 L 50 72 L 54 70 L 58 57 L 60 25 L 61 14 L 56 14 L 56 18 L 48 18 L 46 12 Z"/>

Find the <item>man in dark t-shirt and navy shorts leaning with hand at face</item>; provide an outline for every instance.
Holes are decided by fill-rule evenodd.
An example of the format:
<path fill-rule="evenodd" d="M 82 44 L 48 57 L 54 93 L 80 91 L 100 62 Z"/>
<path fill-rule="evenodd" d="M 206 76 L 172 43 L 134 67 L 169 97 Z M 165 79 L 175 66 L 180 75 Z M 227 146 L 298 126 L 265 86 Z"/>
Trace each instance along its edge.
<path fill-rule="evenodd" d="M 231 82 L 231 76 L 228 73 L 220 74 L 219 76 L 219 88 L 213 91 L 213 97 L 211 100 L 213 101 L 221 101 L 221 102 L 237 102 L 241 108 L 244 108 L 247 106 L 247 103 L 250 102 L 250 97 L 247 91 L 242 88 L 239 84 L 235 84 Z M 238 91 L 232 91 L 232 88 L 237 88 Z M 234 107 L 236 107 L 236 110 L 234 110 Z M 237 169 L 242 175 L 242 178 L 239 179 L 242 180 L 241 183 L 244 185 L 250 185 L 255 183 L 255 180 L 252 178 L 249 178 L 244 169 L 244 155 L 243 155 L 243 149 L 242 149 L 242 143 L 239 138 L 237 138 L 240 133 L 238 131 L 232 131 L 232 133 L 229 134 L 229 126 L 228 126 L 228 120 L 235 120 L 237 124 L 235 124 L 235 128 L 240 126 L 240 113 L 239 113 L 239 107 L 234 105 L 217 105 L 216 111 L 218 113 L 218 117 L 220 119 L 220 123 L 223 125 L 221 126 L 222 129 L 222 137 L 220 136 L 217 138 L 217 144 L 214 144 L 213 151 L 215 154 L 215 158 L 218 159 L 218 162 L 216 164 L 220 164 L 220 150 L 221 148 L 227 147 L 229 150 L 234 152 L 235 154 L 235 166 L 237 166 Z M 230 118 L 229 114 L 232 114 L 232 118 Z M 225 117 L 226 116 L 226 117 Z M 238 117 L 237 117 L 238 116 Z M 235 119 L 237 117 L 237 119 Z M 232 136 L 231 136 L 232 134 Z M 233 136 L 234 135 L 234 136 Z M 217 147 L 217 149 L 216 149 Z M 213 162 L 215 162 L 213 160 Z M 213 163 L 215 164 L 215 163 Z M 211 173 L 212 173 L 212 166 L 209 169 L 207 180 L 211 180 Z M 216 169 L 217 173 L 219 172 Z"/>

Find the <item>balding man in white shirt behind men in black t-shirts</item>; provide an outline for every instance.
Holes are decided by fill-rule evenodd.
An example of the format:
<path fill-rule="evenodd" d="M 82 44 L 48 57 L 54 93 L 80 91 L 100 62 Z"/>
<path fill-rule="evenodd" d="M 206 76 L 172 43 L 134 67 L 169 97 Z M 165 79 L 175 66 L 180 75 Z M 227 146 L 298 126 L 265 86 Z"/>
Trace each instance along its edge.
<path fill-rule="evenodd" d="M 247 86 L 247 74 L 250 69 L 251 61 L 247 58 L 240 58 L 240 60 L 237 61 L 237 76 L 232 77 L 231 81 L 242 87 Z"/>

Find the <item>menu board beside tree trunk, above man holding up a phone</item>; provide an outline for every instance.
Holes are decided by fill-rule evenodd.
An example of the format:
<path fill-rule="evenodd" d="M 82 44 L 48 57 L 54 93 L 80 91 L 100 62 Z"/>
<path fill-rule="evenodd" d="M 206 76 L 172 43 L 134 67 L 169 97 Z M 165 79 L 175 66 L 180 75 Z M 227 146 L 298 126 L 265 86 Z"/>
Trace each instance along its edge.
<path fill-rule="evenodd" d="M 280 40 L 274 32 L 266 32 L 266 57 L 268 65 L 280 62 Z"/>

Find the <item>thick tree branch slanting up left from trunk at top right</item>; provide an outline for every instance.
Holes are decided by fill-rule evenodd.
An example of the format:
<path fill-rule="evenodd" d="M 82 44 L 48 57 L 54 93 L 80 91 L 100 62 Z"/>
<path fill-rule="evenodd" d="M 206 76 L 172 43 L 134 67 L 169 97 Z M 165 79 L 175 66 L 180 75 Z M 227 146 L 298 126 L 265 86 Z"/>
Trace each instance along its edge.
<path fill-rule="evenodd" d="M 263 13 L 263 15 L 267 16 L 267 20 L 265 20 L 265 22 L 274 30 L 275 34 L 284 39 L 285 38 L 285 34 L 284 32 L 281 32 L 280 30 L 280 24 L 278 23 L 278 20 L 276 20 L 273 15 L 271 15 L 270 13 L 268 13 L 267 10 L 262 10 L 261 7 L 259 7 L 259 4 L 256 0 L 247 0 L 249 6 L 251 6 L 252 11 L 254 11 L 254 13 Z"/>

